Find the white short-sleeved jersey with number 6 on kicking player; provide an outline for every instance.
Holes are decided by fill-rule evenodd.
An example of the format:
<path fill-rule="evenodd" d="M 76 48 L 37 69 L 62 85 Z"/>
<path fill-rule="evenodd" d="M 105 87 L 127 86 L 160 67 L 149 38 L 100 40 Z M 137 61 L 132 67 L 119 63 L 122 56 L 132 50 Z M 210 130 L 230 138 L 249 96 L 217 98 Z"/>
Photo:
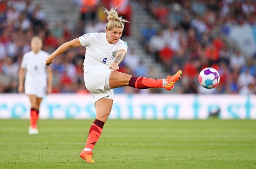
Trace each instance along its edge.
<path fill-rule="evenodd" d="M 79 37 L 82 46 L 86 46 L 86 54 L 83 63 L 84 72 L 97 69 L 109 70 L 114 63 L 117 51 L 128 46 L 125 41 L 119 39 L 116 44 L 109 44 L 106 33 L 86 33 Z"/>

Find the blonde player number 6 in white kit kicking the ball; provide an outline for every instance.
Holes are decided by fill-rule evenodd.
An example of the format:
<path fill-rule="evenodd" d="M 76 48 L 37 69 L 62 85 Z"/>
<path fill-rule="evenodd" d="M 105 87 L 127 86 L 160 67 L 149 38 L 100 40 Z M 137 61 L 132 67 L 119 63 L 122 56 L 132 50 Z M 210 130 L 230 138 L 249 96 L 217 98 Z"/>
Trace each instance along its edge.
<path fill-rule="evenodd" d="M 146 77 L 134 77 L 118 72 L 119 64 L 122 62 L 128 46 L 122 41 L 124 23 L 128 22 L 118 16 L 112 8 L 105 9 L 108 14 L 106 33 L 87 33 L 79 38 L 62 44 L 46 60 L 50 65 L 53 59 L 59 54 L 66 52 L 72 47 L 86 46 L 86 54 L 83 63 L 84 82 L 86 88 L 92 93 L 95 100 L 96 119 L 89 129 L 89 136 L 80 157 L 89 163 L 95 163 L 92 159 L 92 150 L 102 133 L 103 125 L 109 117 L 113 105 L 114 88 L 130 86 L 139 89 L 153 87 L 164 87 L 173 90 L 174 83 L 181 77 L 182 72 L 178 71 L 174 76 L 167 76 L 167 79 L 151 79 Z"/>

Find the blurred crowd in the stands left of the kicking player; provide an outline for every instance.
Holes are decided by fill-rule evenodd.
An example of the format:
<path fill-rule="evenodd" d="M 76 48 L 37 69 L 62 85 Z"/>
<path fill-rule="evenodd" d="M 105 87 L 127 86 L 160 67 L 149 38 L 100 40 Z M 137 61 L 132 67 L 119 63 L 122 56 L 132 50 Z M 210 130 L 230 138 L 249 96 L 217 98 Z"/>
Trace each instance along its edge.
<path fill-rule="evenodd" d="M 126 0 L 128 2 L 128 0 Z M 123 1 L 125 2 L 125 1 Z M 17 93 L 18 71 L 25 52 L 31 50 L 30 40 L 40 36 L 43 49 L 49 54 L 66 41 L 78 38 L 86 32 L 104 32 L 106 16 L 103 8 L 118 5 L 116 0 L 74 0 L 81 6 L 81 18 L 72 29 L 65 21 L 56 22 L 50 29 L 45 10 L 33 0 L 0 0 L 0 93 Z M 89 3 L 89 4 L 86 4 Z M 126 17 L 129 4 L 122 11 Z M 79 11 L 77 11 L 79 13 Z M 125 32 L 129 34 L 129 29 Z M 89 93 L 83 80 L 85 48 L 70 49 L 57 57 L 53 68 L 53 93 Z"/>

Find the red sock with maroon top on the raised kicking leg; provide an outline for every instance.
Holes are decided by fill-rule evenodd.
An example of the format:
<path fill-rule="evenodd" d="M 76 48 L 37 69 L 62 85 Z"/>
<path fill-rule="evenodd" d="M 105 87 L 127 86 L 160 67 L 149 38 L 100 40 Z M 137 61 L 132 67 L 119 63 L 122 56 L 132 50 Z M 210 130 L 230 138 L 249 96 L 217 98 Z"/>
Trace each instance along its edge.
<path fill-rule="evenodd" d="M 132 76 L 129 81 L 129 86 L 138 88 L 138 89 L 163 87 L 163 79 L 152 79 L 152 78 L 147 78 L 147 77 Z"/>

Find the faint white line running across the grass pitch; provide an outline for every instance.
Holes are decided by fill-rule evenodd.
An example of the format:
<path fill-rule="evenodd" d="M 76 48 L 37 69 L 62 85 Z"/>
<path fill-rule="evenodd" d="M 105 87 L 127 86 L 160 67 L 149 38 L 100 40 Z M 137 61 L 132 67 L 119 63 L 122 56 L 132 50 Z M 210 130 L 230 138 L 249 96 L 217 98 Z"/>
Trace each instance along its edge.
<path fill-rule="evenodd" d="M 1 145 L 84 145 L 83 142 L 0 142 Z M 106 145 L 150 145 L 150 146 L 157 146 L 157 145 L 170 145 L 170 146 L 256 146 L 256 143 L 100 143 Z"/>

